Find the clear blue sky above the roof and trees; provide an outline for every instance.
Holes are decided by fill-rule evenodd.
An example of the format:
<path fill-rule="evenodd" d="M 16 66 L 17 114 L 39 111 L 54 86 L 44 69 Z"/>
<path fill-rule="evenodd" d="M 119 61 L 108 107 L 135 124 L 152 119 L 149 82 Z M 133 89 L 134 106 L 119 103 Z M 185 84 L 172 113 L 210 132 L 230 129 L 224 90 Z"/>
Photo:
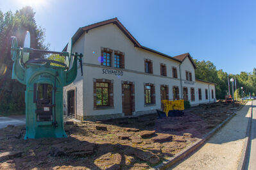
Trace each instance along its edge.
<path fill-rule="evenodd" d="M 79 27 L 117 19 L 141 45 L 169 56 L 189 52 L 228 73 L 256 68 L 256 1 L 1 0 L 0 10 L 35 11 L 50 50 L 62 51 Z"/>

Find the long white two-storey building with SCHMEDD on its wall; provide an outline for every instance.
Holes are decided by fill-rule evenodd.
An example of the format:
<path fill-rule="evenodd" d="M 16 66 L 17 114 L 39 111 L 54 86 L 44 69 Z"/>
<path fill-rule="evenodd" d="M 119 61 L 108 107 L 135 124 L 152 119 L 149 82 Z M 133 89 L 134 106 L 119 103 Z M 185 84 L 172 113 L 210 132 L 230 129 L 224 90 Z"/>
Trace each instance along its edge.
<path fill-rule="evenodd" d="M 144 47 L 117 18 L 80 27 L 73 51 L 84 54 L 84 73 L 64 88 L 64 112 L 78 120 L 148 114 L 163 99 L 216 100 L 215 84 L 195 79 L 189 53 L 171 57 Z"/>

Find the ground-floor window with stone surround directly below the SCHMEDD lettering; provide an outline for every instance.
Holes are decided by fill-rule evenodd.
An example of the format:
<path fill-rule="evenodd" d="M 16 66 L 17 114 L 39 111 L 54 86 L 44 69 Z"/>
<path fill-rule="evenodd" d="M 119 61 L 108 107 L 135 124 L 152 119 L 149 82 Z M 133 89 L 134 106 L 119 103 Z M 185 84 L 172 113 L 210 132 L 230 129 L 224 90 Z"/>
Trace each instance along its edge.
<path fill-rule="evenodd" d="M 94 79 L 94 108 L 113 107 L 113 82 L 107 79 Z"/>

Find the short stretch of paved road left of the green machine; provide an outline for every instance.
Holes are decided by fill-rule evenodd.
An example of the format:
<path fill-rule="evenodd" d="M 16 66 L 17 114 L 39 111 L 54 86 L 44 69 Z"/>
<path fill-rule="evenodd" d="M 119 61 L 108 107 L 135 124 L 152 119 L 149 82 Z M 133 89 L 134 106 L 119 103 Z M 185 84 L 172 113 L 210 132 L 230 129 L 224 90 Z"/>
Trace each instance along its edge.
<path fill-rule="evenodd" d="M 11 117 L 1 117 L 0 116 L 0 128 L 7 127 L 7 125 L 25 125 L 25 116 L 11 116 Z"/>

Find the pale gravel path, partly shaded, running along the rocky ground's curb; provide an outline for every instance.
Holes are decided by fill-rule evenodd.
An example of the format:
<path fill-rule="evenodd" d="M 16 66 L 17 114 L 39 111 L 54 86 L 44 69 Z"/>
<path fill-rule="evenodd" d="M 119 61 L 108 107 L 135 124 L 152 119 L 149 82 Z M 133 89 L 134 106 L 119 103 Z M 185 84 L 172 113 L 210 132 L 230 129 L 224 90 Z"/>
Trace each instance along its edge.
<path fill-rule="evenodd" d="M 248 102 L 200 150 L 171 169 L 237 169 L 251 109 Z"/>

